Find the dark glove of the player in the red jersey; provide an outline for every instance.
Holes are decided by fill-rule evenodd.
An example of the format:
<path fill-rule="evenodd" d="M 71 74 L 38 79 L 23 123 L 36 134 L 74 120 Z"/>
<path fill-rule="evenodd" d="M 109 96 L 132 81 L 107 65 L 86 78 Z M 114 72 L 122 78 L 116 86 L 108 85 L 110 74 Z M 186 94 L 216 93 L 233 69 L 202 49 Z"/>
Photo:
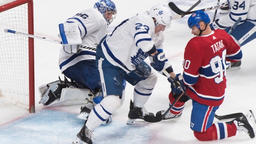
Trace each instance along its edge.
<path fill-rule="evenodd" d="M 183 75 L 180 73 L 176 74 L 176 76 L 173 78 L 174 83 L 172 80 L 168 78 L 168 81 L 171 83 L 171 91 L 175 94 L 180 94 L 182 92 L 186 91 L 187 86 L 183 82 Z M 175 82 L 177 82 L 175 84 Z M 178 85 L 180 83 L 180 85 Z"/>

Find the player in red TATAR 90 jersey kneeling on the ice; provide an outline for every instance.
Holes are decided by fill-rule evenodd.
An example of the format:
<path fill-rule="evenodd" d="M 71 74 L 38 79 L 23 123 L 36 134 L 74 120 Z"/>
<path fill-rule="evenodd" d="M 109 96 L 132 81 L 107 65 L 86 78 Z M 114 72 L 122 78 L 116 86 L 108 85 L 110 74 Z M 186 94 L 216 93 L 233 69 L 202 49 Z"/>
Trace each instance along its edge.
<path fill-rule="evenodd" d="M 196 35 L 185 47 L 182 75 L 174 79 L 181 87 L 171 83 L 169 95 L 172 103 L 181 91 L 192 99 L 190 128 L 200 141 L 211 141 L 235 136 L 237 131 L 255 137 L 248 116 L 241 115 L 229 122 L 214 123 L 216 110 L 222 104 L 226 88 L 226 60 L 236 62 L 242 59 L 239 45 L 223 30 L 211 30 L 206 12 L 194 12 L 187 21 L 191 33 Z M 170 113 L 179 115 L 188 98 L 182 96 Z M 251 120 L 255 118 L 250 111 Z M 248 118 L 248 120 L 247 120 Z"/>

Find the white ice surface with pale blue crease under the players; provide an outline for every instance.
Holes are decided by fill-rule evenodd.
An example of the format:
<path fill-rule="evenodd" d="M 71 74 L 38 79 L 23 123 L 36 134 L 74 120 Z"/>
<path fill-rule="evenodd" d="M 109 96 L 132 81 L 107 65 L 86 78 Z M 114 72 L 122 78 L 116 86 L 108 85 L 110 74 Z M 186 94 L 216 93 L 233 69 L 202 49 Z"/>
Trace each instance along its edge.
<path fill-rule="evenodd" d="M 109 26 L 113 31 L 121 21 L 135 16 L 138 12 L 149 10 L 152 6 L 174 2 L 181 10 L 186 11 L 198 0 L 113 0 L 117 8 L 117 17 Z M 58 25 L 66 19 L 93 7 L 97 0 L 34 0 L 34 34 L 60 40 Z M 225 0 L 220 0 L 220 4 Z M 192 10 L 213 7 L 217 0 L 203 0 Z M 175 14 L 171 11 L 172 14 Z M 207 11 L 211 21 L 215 10 Z M 175 73 L 182 73 L 183 53 L 187 42 L 193 37 L 188 32 L 187 19 L 173 20 L 171 27 L 165 31 L 164 52 Z M 225 14 L 217 13 L 216 19 Z M 36 113 L 0 103 L 0 144 L 71 144 L 81 130 L 84 120 L 76 118 L 81 106 L 71 105 L 46 108 L 38 104 L 40 97 L 38 87 L 43 84 L 63 79 L 58 66 L 60 44 L 43 40 L 35 43 L 35 97 Z M 256 114 L 256 40 L 242 47 L 242 68 L 227 72 L 227 88 L 223 104 L 216 111 L 217 115 L 246 113 L 250 109 Z M 146 60 L 149 64 L 149 59 Z M 166 77 L 159 74 L 154 91 L 145 104 L 147 111 L 168 109 L 168 94 L 171 91 Z M 130 99 L 133 99 L 133 86 L 127 84 L 126 98 L 123 106 L 113 114 L 113 123 L 101 125 L 94 131 L 93 144 L 256 144 L 245 132 L 218 141 L 200 142 L 190 129 L 192 106 L 183 110 L 180 119 L 158 123 L 126 125 Z M 215 119 L 214 122 L 220 120 Z M 226 120 L 230 121 L 230 120 Z"/>

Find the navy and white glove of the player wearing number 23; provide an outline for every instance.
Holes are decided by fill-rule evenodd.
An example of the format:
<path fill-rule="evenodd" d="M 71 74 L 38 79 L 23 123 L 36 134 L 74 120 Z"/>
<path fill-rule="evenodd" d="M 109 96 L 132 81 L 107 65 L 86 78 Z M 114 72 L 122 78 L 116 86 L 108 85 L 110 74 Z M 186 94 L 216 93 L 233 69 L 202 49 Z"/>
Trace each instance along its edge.
<path fill-rule="evenodd" d="M 153 56 L 152 56 L 153 57 Z M 158 52 L 153 57 L 152 63 L 150 65 L 156 70 L 156 71 L 162 71 L 164 69 L 164 63 L 168 61 L 165 57 L 164 52 Z"/>

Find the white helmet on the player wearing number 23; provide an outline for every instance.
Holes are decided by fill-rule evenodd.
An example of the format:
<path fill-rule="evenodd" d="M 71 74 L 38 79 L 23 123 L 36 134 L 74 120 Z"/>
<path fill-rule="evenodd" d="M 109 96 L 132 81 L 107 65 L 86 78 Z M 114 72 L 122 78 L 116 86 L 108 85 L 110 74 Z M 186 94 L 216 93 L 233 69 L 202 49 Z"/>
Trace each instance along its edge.
<path fill-rule="evenodd" d="M 149 10 L 149 16 L 156 20 L 155 26 L 162 24 L 166 28 L 170 27 L 173 19 L 170 9 L 163 4 L 153 6 Z"/>

